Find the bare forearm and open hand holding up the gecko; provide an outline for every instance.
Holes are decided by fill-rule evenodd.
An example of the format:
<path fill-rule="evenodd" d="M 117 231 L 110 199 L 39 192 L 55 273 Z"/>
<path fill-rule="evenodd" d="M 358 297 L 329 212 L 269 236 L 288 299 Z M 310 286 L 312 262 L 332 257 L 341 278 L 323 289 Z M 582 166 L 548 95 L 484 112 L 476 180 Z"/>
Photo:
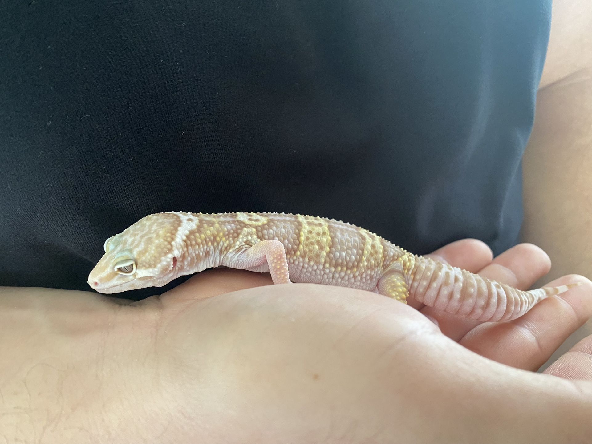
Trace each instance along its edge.
<path fill-rule="evenodd" d="M 528 288 L 521 244 L 437 259 Z M 478 324 L 341 287 L 217 269 L 137 303 L 0 290 L 6 442 L 589 442 L 592 337 L 536 369 L 592 314 L 592 283 Z M 413 307 L 415 305 L 415 308 Z M 431 320 L 430 320 L 431 319 Z M 439 327 L 436 326 L 439 324 Z"/>

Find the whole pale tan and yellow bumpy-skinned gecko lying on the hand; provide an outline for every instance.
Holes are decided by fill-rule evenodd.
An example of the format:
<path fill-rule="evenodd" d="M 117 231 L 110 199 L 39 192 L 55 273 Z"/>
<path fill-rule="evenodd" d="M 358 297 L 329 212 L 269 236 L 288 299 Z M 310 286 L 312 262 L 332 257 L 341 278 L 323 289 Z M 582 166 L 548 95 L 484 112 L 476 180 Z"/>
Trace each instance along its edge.
<path fill-rule="evenodd" d="M 521 291 L 413 255 L 348 223 L 279 213 L 150 214 L 110 237 L 88 276 L 101 293 L 162 287 L 226 266 L 270 272 L 274 284 L 313 282 L 414 298 L 457 316 L 511 320 L 576 284 Z"/>

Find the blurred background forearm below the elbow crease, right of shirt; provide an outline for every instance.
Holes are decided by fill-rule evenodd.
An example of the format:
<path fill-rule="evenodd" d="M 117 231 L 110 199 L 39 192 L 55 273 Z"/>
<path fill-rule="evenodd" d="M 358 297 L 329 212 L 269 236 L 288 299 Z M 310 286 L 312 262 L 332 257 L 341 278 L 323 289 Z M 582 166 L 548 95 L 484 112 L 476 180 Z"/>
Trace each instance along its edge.
<path fill-rule="evenodd" d="M 539 91 L 523 173 L 522 239 L 550 256 L 544 281 L 592 277 L 592 70 Z"/>

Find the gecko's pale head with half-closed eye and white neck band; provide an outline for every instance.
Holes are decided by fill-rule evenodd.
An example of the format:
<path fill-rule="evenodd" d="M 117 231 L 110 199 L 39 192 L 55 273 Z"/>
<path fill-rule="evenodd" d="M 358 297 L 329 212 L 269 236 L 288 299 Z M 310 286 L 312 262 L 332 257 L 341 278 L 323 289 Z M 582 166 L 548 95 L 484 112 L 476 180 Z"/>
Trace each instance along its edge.
<path fill-rule="evenodd" d="M 177 259 L 184 239 L 179 239 L 181 216 L 148 215 L 107 239 L 105 254 L 88 275 L 88 284 L 99 293 L 162 287 L 180 276 Z"/>

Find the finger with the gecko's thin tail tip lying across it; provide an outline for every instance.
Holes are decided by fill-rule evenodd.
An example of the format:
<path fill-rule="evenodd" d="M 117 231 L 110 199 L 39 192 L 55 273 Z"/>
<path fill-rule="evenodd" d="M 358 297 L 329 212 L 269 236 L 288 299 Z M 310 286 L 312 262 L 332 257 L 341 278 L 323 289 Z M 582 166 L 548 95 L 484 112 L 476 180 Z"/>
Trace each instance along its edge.
<path fill-rule="evenodd" d="M 535 371 L 592 316 L 592 282 L 588 279 L 569 275 L 548 285 L 578 281 L 582 285 L 540 301 L 524 316 L 478 326 L 461 339 L 461 345 L 494 361 Z"/>

